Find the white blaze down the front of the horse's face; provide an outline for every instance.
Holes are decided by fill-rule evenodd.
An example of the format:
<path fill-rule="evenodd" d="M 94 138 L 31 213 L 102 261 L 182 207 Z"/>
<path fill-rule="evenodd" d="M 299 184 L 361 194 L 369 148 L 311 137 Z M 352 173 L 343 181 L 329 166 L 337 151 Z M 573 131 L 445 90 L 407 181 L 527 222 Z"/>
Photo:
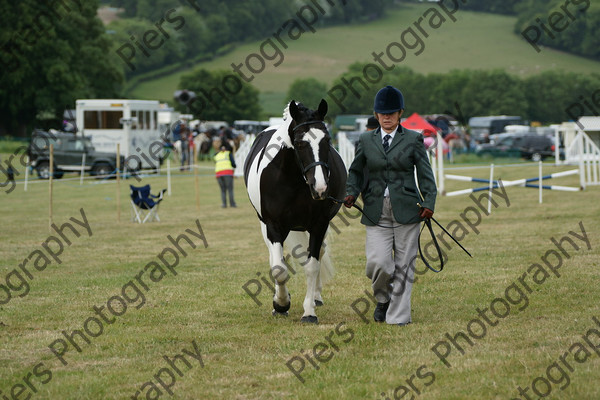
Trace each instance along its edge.
<path fill-rule="evenodd" d="M 326 138 L 326 132 L 311 128 L 296 142 L 296 151 L 299 153 L 304 167 L 319 161 L 327 164 L 327 159 L 323 159 L 323 157 L 327 157 L 329 149 L 329 143 Z M 322 151 L 323 147 L 325 148 L 324 151 Z M 309 154 L 312 160 L 307 159 Z M 327 167 L 321 164 L 313 166 L 305 171 L 305 176 L 313 199 L 324 200 L 328 194 L 329 173 Z"/>

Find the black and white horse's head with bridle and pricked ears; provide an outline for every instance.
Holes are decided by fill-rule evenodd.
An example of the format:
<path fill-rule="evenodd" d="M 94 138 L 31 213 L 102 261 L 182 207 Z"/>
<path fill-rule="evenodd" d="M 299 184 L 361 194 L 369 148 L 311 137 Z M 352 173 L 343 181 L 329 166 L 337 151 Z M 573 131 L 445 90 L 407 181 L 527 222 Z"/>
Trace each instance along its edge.
<path fill-rule="evenodd" d="M 310 193 L 315 200 L 324 200 L 329 194 L 329 146 L 331 138 L 323 122 L 327 102 L 321 100 L 314 111 L 292 100 L 289 104 L 292 122 L 289 134 L 296 160 Z"/>

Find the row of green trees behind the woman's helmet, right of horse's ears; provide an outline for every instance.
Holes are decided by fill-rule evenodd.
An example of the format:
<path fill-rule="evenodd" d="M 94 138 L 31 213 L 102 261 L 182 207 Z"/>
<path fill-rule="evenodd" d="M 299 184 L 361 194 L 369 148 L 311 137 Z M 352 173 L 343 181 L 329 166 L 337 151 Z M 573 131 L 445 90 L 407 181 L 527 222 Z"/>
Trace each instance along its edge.
<path fill-rule="evenodd" d="M 404 94 L 405 116 L 413 112 L 447 113 L 466 123 L 473 116 L 506 114 L 555 123 L 570 120 L 567 109 L 581 99 L 589 101 L 600 88 L 600 74 L 549 71 L 518 78 L 501 70 L 454 70 L 446 74 L 423 75 L 406 67 L 394 68 L 380 82 L 370 83 L 364 79 L 363 67 L 363 64 L 355 63 L 334 81 L 328 91 L 330 95 L 326 97 L 330 116 L 368 114 L 373 109 L 377 91 L 385 85 L 393 85 Z M 353 82 L 356 94 L 349 90 L 344 80 Z M 345 97 L 342 89 L 346 92 Z"/>

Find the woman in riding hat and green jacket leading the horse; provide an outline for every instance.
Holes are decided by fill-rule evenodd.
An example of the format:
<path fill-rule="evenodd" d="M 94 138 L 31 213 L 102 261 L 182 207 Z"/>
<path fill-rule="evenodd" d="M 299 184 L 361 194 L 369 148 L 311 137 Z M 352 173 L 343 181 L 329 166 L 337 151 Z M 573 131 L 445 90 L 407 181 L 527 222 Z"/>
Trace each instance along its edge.
<path fill-rule="evenodd" d="M 433 216 L 437 189 L 423 136 L 400 126 L 404 111 L 400 90 L 392 86 L 379 90 L 373 109 L 380 127 L 359 138 L 344 205 L 351 207 L 362 192 L 366 275 L 377 299 L 373 319 L 404 326 L 411 322 L 419 222 Z"/>

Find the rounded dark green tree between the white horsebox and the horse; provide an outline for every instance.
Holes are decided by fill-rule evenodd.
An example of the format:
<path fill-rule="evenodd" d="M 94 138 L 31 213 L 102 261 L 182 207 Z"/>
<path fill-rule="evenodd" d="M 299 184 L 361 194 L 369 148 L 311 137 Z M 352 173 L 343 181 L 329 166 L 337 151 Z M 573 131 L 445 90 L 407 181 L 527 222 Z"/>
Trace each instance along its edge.
<path fill-rule="evenodd" d="M 195 118 L 233 123 L 236 119 L 254 120 L 261 113 L 258 90 L 231 71 L 198 69 L 183 75 L 179 88 L 196 94 L 190 105 L 177 106 Z"/>

